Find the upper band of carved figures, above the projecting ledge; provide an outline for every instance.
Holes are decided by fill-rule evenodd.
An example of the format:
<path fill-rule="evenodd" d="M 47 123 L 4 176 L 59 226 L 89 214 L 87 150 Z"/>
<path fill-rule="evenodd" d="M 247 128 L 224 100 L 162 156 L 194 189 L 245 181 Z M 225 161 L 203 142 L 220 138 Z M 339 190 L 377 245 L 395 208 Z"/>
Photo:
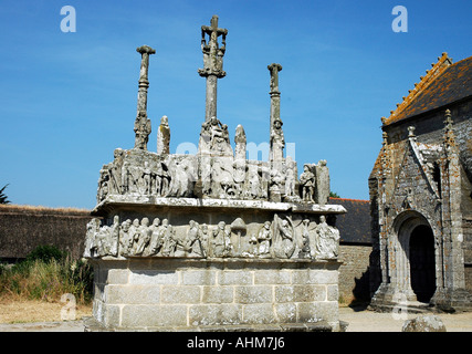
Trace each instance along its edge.
<path fill-rule="evenodd" d="M 148 152 L 135 156 L 118 148 L 115 159 L 101 169 L 97 202 L 111 195 L 139 195 L 325 204 L 329 185 L 322 186 L 323 179 L 316 176 L 327 169 L 323 163 L 304 165 L 298 179 L 290 157 L 274 168 L 270 163 L 232 156 L 164 158 Z"/>

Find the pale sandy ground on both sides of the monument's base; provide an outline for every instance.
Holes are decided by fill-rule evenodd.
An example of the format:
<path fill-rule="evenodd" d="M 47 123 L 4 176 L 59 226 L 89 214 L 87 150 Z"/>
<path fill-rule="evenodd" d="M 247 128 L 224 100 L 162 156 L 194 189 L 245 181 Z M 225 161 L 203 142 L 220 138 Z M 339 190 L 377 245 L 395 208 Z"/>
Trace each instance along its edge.
<path fill-rule="evenodd" d="M 75 321 L 61 321 L 64 303 L 21 301 L 0 302 L 0 332 L 83 332 L 82 317 L 92 315 L 92 306 L 78 306 Z M 417 314 L 409 314 L 408 319 Z M 439 314 L 448 332 L 472 332 L 472 312 Z M 401 332 L 405 319 L 364 308 L 339 308 L 339 320 L 348 322 L 347 332 Z"/>

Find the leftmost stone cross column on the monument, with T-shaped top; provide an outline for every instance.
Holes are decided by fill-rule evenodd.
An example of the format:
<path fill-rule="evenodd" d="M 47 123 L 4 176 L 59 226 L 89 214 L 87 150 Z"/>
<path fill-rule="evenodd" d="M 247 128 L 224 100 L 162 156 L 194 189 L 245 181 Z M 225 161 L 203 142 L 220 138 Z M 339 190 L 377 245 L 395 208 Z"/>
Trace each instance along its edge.
<path fill-rule="evenodd" d="M 150 134 L 150 121 L 147 118 L 147 88 L 149 87 L 148 70 L 149 55 L 155 54 L 156 50 L 147 45 L 136 49 L 141 54 L 141 65 L 139 72 L 138 105 L 135 121 L 135 148 L 147 149 L 147 142 Z"/>

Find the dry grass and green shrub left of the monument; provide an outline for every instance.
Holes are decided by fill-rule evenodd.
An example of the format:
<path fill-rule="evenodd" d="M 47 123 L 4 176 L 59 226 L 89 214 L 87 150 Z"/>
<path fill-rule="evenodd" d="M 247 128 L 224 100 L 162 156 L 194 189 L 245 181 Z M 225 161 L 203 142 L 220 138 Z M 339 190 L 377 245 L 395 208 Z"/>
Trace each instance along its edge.
<path fill-rule="evenodd" d="M 0 264 L 0 323 L 80 320 L 91 315 L 92 296 L 92 267 L 55 247 Z"/>

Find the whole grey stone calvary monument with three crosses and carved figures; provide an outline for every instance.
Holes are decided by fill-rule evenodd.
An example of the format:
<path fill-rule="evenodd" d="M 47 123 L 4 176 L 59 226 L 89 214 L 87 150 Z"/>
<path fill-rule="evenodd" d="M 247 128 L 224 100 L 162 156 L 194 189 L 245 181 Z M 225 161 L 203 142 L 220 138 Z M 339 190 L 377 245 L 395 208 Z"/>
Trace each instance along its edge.
<path fill-rule="evenodd" d="M 217 116 L 228 30 L 201 27 L 207 79 L 198 153 L 169 153 L 167 116 L 149 152 L 149 56 L 141 54 L 135 146 L 99 171 L 84 257 L 95 269 L 87 331 L 338 331 L 339 232 L 325 160 L 284 157 L 280 64 L 269 65 L 270 159 L 247 159 L 247 139 Z M 220 42 L 221 40 L 221 42 Z"/>

